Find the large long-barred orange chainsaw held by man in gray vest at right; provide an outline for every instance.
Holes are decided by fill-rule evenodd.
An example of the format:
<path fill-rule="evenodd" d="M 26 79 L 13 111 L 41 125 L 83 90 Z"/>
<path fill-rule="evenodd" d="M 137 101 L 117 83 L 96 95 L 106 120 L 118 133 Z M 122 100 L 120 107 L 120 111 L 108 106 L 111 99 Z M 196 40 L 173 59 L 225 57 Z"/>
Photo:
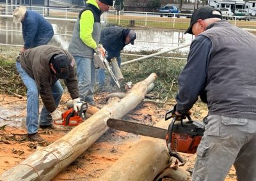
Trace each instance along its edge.
<path fill-rule="evenodd" d="M 171 118 L 168 117 L 168 114 L 171 112 L 172 111 L 166 112 L 165 120 Z M 179 159 L 181 163 L 180 166 L 182 166 L 185 164 L 185 160 L 178 152 L 195 154 L 196 148 L 205 131 L 202 122 L 191 120 L 189 115 L 186 115 L 186 118 L 188 118 L 188 120 L 183 121 L 183 119 L 177 120 L 176 117 L 174 117 L 170 122 L 168 129 L 118 119 L 109 119 L 107 125 L 108 127 L 121 131 L 166 140 L 170 156 Z"/>

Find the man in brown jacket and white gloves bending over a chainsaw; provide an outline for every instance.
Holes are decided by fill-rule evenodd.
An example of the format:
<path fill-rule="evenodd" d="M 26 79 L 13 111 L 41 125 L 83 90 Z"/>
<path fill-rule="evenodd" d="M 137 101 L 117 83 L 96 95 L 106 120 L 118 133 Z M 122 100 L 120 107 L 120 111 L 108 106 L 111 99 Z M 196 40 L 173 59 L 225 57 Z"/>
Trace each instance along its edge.
<path fill-rule="evenodd" d="M 26 126 L 28 137 L 32 141 L 43 142 L 38 134 L 38 124 L 42 128 L 56 128 L 52 120 L 61 120 L 58 110 L 63 88 L 59 79 L 64 79 L 68 92 L 73 99 L 74 109 L 81 108 L 79 99 L 75 62 L 66 50 L 52 45 L 42 45 L 26 50 L 17 58 L 17 71 L 27 92 Z M 39 94 L 44 106 L 39 117 Z"/>

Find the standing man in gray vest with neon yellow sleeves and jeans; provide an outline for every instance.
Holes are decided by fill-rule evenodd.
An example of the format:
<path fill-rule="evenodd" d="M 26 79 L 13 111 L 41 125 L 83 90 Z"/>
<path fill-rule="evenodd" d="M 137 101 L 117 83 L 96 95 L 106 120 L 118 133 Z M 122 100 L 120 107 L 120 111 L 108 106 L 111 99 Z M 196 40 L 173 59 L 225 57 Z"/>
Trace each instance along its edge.
<path fill-rule="evenodd" d="M 113 6 L 113 0 L 88 0 L 80 11 L 68 51 L 77 64 L 79 97 L 90 105 L 93 102 L 95 67 L 93 53 L 100 40 L 100 15 Z"/>

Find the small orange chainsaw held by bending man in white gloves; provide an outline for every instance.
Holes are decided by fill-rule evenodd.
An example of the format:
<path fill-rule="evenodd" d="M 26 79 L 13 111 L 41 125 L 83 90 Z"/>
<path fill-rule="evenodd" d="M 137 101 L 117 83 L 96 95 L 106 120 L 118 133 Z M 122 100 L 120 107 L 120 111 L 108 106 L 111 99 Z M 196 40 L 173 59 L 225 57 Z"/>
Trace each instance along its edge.
<path fill-rule="evenodd" d="M 62 113 L 62 120 L 56 120 L 54 124 L 61 126 L 77 126 L 83 122 L 87 108 L 87 103 L 83 103 L 78 112 L 75 112 L 74 108 L 70 108 Z"/>

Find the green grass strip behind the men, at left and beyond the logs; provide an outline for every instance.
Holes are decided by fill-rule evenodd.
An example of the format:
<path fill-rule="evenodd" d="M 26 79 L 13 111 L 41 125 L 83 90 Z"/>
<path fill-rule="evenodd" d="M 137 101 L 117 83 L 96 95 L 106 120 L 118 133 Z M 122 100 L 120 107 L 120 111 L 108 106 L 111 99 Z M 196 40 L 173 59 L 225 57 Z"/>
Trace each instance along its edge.
<path fill-rule="evenodd" d="M 24 86 L 19 73 L 15 66 L 15 59 L 20 48 L 15 47 L 0 47 L 0 93 L 1 94 L 26 94 L 26 87 Z M 158 52 L 155 51 L 141 51 L 136 52 L 141 55 L 148 55 Z M 131 52 L 125 52 L 131 53 Z M 125 82 L 137 83 L 147 78 L 151 73 L 157 74 L 156 86 L 153 91 L 156 92 L 159 99 L 173 98 L 178 90 L 177 78 L 180 71 L 186 64 L 185 60 L 170 59 L 168 57 L 186 57 L 186 54 L 180 52 L 173 52 L 172 54 L 164 54 L 163 57 L 152 57 L 145 61 L 134 62 L 122 66 L 121 70 Z M 123 62 L 132 60 L 138 57 L 124 55 Z"/>

